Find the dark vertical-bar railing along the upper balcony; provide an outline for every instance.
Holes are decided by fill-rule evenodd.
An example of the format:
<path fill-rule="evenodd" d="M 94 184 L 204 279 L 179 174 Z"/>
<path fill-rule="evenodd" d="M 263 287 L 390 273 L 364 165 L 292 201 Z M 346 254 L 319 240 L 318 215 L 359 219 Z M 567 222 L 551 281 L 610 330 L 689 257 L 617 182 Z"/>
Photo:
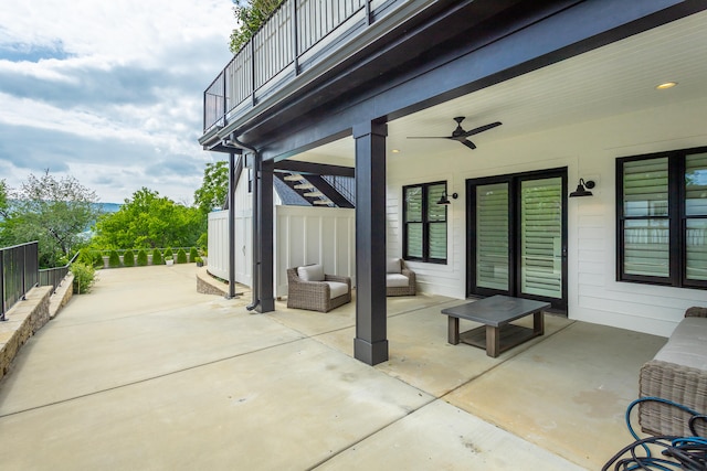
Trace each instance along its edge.
<path fill-rule="evenodd" d="M 226 126 L 409 3 L 430 2 L 285 0 L 204 92 L 204 133 Z"/>

